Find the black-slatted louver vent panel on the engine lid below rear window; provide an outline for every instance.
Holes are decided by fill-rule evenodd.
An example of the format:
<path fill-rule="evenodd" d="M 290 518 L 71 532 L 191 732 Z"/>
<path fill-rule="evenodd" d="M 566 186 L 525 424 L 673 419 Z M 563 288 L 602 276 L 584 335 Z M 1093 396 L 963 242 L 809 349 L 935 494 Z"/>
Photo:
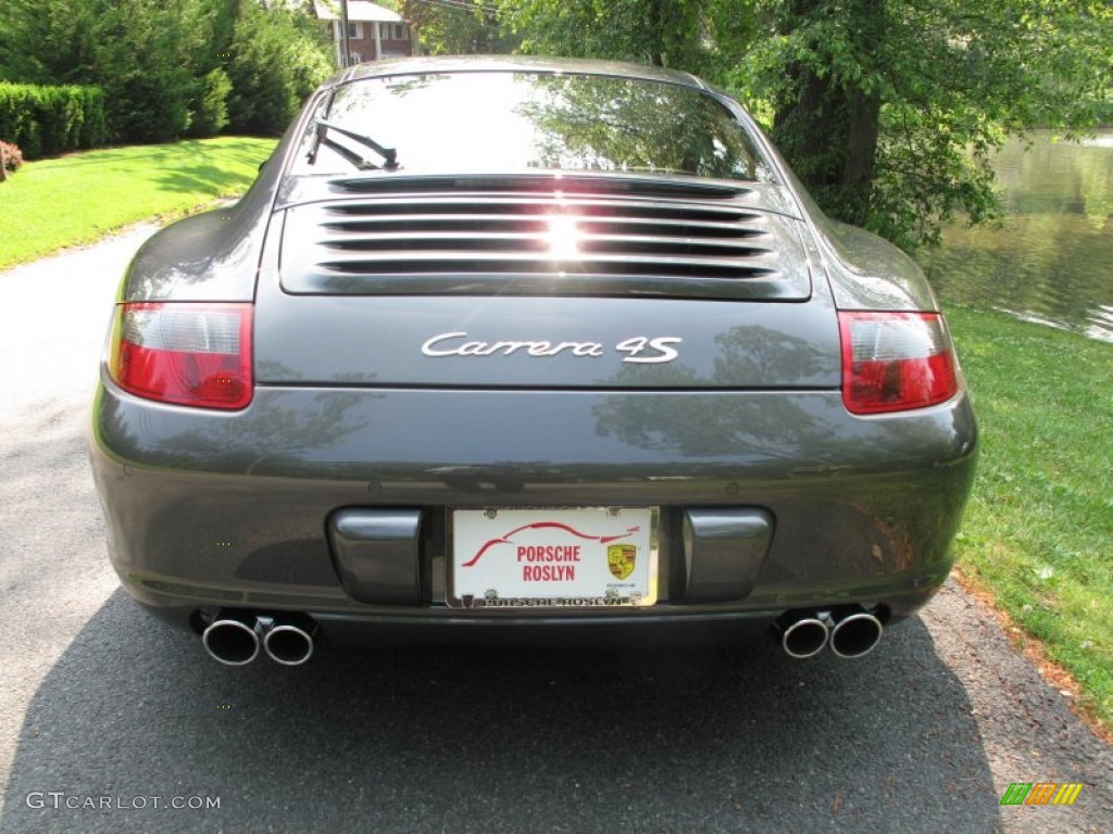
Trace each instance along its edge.
<path fill-rule="evenodd" d="M 617 193 L 598 182 L 589 193 L 567 190 L 567 182 L 561 190 L 500 185 L 391 189 L 287 209 L 283 288 L 314 295 L 810 295 L 795 221 L 748 206 L 746 189 L 620 181 Z M 334 183 L 334 191 L 354 190 Z"/>

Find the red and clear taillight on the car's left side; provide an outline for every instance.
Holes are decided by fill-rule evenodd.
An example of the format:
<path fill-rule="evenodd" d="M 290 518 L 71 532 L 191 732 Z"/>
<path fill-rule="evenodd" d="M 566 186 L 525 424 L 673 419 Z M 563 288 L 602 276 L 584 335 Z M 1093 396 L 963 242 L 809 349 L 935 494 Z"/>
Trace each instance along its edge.
<path fill-rule="evenodd" d="M 252 401 L 252 305 L 119 305 L 108 371 L 139 397 L 244 408 Z"/>

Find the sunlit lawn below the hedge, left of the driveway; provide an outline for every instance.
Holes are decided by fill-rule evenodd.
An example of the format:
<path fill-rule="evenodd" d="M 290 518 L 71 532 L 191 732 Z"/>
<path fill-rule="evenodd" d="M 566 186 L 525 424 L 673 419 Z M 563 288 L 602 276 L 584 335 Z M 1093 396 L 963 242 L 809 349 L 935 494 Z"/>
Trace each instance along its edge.
<path fill-rule="evenodd" d="M 0 182 L 0 269 L 240 193 L 275 143 L 219 137 L 27 162 Z"/>

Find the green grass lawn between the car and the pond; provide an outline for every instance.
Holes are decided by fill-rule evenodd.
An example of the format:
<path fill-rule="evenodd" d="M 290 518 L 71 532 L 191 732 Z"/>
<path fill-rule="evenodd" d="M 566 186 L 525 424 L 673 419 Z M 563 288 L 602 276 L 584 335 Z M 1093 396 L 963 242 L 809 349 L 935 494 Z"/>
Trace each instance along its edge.
<path fill-rule="evenodd" d="M 958 564 L 1113 729 L 1113 345 L 947 310 L 982 457 Z"/>

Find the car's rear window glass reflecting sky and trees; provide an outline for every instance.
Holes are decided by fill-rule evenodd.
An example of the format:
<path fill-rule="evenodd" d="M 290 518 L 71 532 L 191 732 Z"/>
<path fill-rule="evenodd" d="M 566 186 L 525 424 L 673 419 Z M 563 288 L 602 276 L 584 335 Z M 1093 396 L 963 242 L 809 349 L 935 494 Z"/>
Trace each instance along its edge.
<path fill-rule="evenodd" d="M 706 92 L 638 79 L 536 72 L 393 76 L 339 87 L 317 117 L 393 149 L 407 173 L 603 171 L 772 181 L 733 115 Z M 306 148 L 315 141 L 306 137 Z M 384 166 L 328 130 L 301 173 Z M 339 143 L 353 161 L 331 148 Z"/>

